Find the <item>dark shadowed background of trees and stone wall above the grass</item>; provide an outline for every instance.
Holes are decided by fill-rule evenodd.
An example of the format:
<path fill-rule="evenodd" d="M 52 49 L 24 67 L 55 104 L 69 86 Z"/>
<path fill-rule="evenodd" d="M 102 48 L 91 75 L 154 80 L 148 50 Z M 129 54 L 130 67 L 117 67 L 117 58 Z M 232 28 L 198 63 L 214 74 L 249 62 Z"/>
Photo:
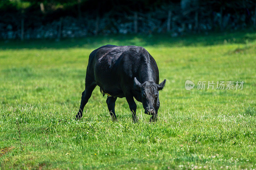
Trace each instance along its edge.
<path fill-rule="evenodd" d="M 255 0 L 1 0 L 0 38 L 61 38 L 256 27 Z"/>

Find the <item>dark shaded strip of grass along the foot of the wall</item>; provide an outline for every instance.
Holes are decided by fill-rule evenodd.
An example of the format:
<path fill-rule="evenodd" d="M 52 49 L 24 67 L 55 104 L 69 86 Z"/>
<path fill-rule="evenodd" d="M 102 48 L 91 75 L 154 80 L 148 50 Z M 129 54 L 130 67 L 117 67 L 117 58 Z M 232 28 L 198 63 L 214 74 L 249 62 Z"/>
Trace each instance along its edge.
<path fill-rule="evenodd" d="M 57 42 L 53 39 L 44 40 L 1 40 L 0 50 L 6 49 L 66 49 L 66 48 L 91 48 L 96 49 L 102 45 L 136 45 L 156 47 L 181 47 L 181 46 L 209 46 L 225 43 L 246 44 L 256 40 L 253 31 L 240 31 L 229 33 L 210 33 L 183 35 L 172 37 L 171 34 L 152 35 L 98 35 L 85 38 L 62 39 Z"/>

